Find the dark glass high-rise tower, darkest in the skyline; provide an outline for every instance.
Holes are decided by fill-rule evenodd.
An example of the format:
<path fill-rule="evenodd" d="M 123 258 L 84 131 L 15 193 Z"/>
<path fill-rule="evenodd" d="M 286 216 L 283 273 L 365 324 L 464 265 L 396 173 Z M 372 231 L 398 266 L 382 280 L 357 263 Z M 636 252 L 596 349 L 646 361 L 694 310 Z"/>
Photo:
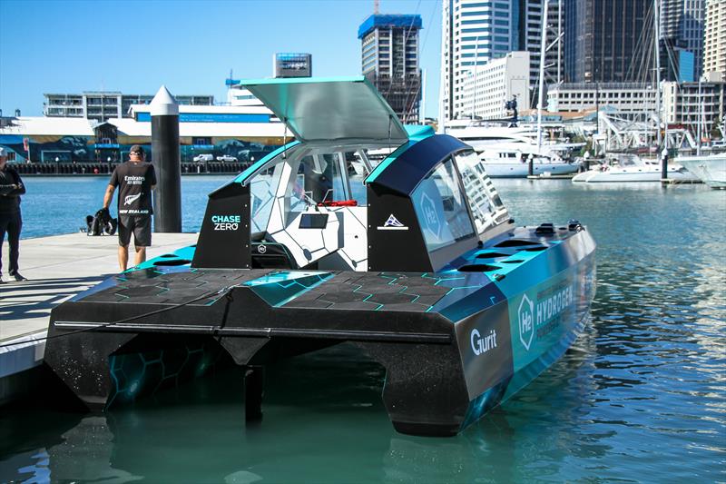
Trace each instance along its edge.
<path fill-rule="evenodd" d="M 652 0 L 565 0 L 566 80 L 603 83 L 641 77 L 643 58 L 637 53 L 647 48 L 643 35 L 649 5 Z"/>

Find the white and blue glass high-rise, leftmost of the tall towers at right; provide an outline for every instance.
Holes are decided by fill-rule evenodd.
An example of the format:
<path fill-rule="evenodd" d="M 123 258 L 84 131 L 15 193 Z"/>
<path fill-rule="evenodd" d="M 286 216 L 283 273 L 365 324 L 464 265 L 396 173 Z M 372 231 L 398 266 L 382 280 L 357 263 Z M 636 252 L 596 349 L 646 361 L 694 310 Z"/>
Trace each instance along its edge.
<path fill-rule="evenodd" d="M 441 98 L 443 119 L 467 115 L 464 83 L 476 67 L 517 50 L 518 0 L 443 0 Z"/>

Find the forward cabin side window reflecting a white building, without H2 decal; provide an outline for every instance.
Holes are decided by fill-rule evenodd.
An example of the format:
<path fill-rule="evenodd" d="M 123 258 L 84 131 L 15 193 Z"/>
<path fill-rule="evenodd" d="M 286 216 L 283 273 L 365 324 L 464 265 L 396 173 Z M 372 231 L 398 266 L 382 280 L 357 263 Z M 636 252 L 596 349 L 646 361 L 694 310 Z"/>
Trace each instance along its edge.
<path fill-rule="evenodd" d="M 509 219 L 502 199 L 496 193 L 494 184 L 486 175 L 484 165 L 474 152 L 463 152 L 455 155 L 456 167 L 461 173 L 464 190 L 469 199 L 469 206 L 474 215 L 476 232 L 483 233 L 488 229 Z"/>

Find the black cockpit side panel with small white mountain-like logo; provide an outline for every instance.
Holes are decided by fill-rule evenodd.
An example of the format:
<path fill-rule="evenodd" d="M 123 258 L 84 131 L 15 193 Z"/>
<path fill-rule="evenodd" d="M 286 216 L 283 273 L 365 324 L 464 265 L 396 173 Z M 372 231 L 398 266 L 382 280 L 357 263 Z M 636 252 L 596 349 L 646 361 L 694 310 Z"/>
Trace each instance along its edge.
<path fill-rule="evenodd" d="M 411 199 L 377 183 L 368 185 L 368 271 L 433 272 Z"/>

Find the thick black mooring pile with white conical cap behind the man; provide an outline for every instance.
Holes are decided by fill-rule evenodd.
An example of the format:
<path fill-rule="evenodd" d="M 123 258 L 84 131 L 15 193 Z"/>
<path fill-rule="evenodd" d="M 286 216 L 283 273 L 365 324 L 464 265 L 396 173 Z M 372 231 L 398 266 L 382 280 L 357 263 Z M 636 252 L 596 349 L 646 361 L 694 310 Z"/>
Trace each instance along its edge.
<path fill-rule="evenodd" d="M 179 150 L 179 104 L 165 86 L 151 103 L 154 232 L 182 232 L 182 159 Z"/>

